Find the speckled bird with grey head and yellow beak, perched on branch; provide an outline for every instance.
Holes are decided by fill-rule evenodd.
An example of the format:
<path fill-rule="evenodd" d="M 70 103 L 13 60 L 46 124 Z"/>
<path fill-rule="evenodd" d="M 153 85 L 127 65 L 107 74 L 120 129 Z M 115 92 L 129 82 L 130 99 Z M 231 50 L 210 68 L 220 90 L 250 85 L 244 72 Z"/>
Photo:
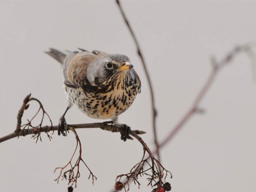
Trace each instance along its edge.
<path fill-rule="evenodd" d="M 95 119 L 112 119 L 121 125 L 121 139 L 129 138 L 131 131 L 126 124 L 118 123 L 118 116 L 125 112 L 141 92 L 141 81 L 129 57 L 102 51 L 59 51 L 49 48 L 48 55 L 63 66 L 63 89 L 67 108 L 60 117 L 58 135 L 67 127 L 65 115 L 72 105 Z M 131 138 L 131 137 L 130 137 Z"/>

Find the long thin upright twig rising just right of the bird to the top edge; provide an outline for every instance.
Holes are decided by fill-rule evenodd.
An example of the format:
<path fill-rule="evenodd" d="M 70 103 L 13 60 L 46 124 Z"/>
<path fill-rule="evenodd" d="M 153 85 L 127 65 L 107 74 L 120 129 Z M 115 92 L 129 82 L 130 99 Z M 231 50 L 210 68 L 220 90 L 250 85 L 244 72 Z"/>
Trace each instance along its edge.
<path fill-rule="evenodd" d="M 137 47 L 137 53 L 141 59 L 141 62 L 142 62 L 142 66 L 143 66 L 143 69 L 145 71 L 145 74 L 146 74 L 146 79 L 147 79 L 147 83 L 148 83 L 148 86 L 150 87 L 150 95 L 151 95 L 151 106 L 152 106 L 152 124 L 153 124 L 153 132 L 154 132 L 154 142 L 155 142 L 155 145 L 156 145 L 156 153 L 157 153 L 157 158 L 158 160 L 160 161 L 160 153 L 159 153 L 159 142 L 158 142 L 158 139 L 157 139 L 157 131 L 156 131 L 156 116 L 157 116 L 157 111 L 156 111 L 156 107 L 155 107 L 155 98 L 154 98 L 154 92 L 153 92 L 153 86 L 152 86 L 152 82 L 151 82 L 151 78 L 150 78 L 150 75 L 147 71 L 147 67 L 146 67 L 146 64 L 145 64 L 145 61 L 144 61 L 144 57 L 142 55 L 142 52 L 141 52 L 141 49 L 140 49 L 140 46 L 139 46 L 139 42 L 135 36 L 135 33 L 133 32 L 132 30 L 132 27 L 129 23 L 129 21 L 127 20 L 127 17 L 125 16 L 124 14 L 124 11 L 123 11 L 123 8 L 122 6 L 120 5 L 120 2 L 119 0 L 116 0 L 116 3 L 118 5 L 118 8 L 122 14 L 122 17 L 124 19 L 124 22 L 125 24 L 127 25 L 132 37 L 133 37 L 133 40 L 136 44 L 136 47 Z"/>

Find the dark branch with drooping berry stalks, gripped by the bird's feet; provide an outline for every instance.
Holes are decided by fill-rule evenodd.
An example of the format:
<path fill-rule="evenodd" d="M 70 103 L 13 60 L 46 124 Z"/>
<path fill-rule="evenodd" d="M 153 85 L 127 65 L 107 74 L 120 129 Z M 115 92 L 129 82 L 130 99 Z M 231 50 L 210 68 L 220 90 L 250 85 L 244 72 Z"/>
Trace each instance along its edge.
<path fill-rule="evenodd" d="M 29 106 L 28 103 L 29 103 L 29 101 L 32 101 L 32 100 L 39 103 L 39 109 L 35 113 L 35 115 L 30 120 L 28 120 L 28 123 L 21 125 L 24 111 L 28 109 L 28 106 Z M 38 115 L 38 112 L 40 110 L 42 111 L 41 121 L 40 121 L 39 125 L 33 126 L 32 120 Z M 37 141 L 38 139 L 41 140 L 41 134 L 40 134 L 41 132 L 45 132 L 47 134 L 47 136 L 49 137 L 49 139 L 51 140 L 52 137 L 48 134 L 48 132 L 56 131 L 58 129 L 58 126 L 52 125 L 52 121 L 49 116 L 48 117 L 50 119 L 51 126 L 41 126 L 41 124 L 44 120 L 45 114 L 48 116 L 48 114 L 44 110 L 44 107 L 42 106 L 41 102 L 36 98 L 31 98 L 31 94 L 29 94 L 28 96 L 25 97 L 25 99 L 23 101 L 23 105 L 18 112 L 17 127 L 16 127 L 15 131 L 12 134 L 9 134 L 7 136 L 0 138 L 0 142 L 6 141 L 6 140 L 14 138 L 14 137 L 26 136 L 26 135 L 30 135 L 30 134 L 34 134 L 32 136 L 32 138 L 34 138 L 34 139 L 36 138 L 36 141 Z M 32 127 L 32 128 L 29 128 L 29 127 Z M 96 127 L 100 128 L 102 130 L 106 130 L 106 131 L 120 132 L 121 134 L 124 131 L 124 126 L 120 126 L 120 124 L 115 125 L 115 124 L 113 124 L 113 121 L 106 121 L 106 122 L 102 122 L 102 123 L 69 124 L 67 126 L 67 130 L 65 130 L 65 131 L 71 130 L 74 133 L 75 138 L 76 138 L 76 147 L 75 147 L 75 151 L 74 151 L 73 155 L 71 156 L 71 159 L 69 160 L 69 162 L 62 167 L 55 168 L 54 173 L 56 172 L 56 170 L 59 170 L 59 175 L 55 179 L 55 181 L 59 182 L 59 180 L 61 178 L 62 178 L 62 180 L 68 179 L 69 184 L 71 184 L 70 187 L 73 188 L 72 185 L 74 183 L 75 183 L 75 187 L 76 187 L 77 180 L 80 177 L 80 170 L 79 170 L 80 163 L 82 163 L 87 167 L 87 169 L 90 172 L 88 179 L 92 178 L 92 182 L 94 184 L 94 180 L 97 180 L 97 178 L 94 176 L 94 174 L 92 173 L 91 169 L 86 164 L 86 162 L 84 162 L 84 160 L 82 159 L 82 146 L 81 146 L 79 136 L 77 135 L 75 129 L 96 128 Z M 168 186 L 167 189 L 170 188 L 170 184 L 164 183 L 164 182 L 165 182 L 167 175 L 169 174 L 170 178 L 172 178 L 172 174 L 160 164 L 160 162 L 152 154 L 152 152 L 151 152 L 150 148 L 147 146 L 147 144 L 143 141 L 143 139 L 141 137 L 139 137 L 139 134 L 144 134 L 145 132 L 138 131 L 138 130 L 131 131 L 130 127 L 127 125 L 125 125 L 125 127 L 126 127 L 125 130 L 129 130 L 127 132 L 127 134 L 133 136 L 142 144 L 143 157 L 139 163 L 137 163 L 135 166 L 133 166 L 130 173 L 121 174 L 121 175 L 117 176 L 117 179 L 119 179 L 119 181 L 116 182 L 115 188 L 118 190 L 121 190 L 122 188 L 124 188 L 126 191 L 125 186 L 128 185 L 127 190 L 129 190 L 129 180 L 130 179 L 132 179 L 135 184 L 137 183 L 140 186 L 138 177 L 139 176 L 141 177 L 144 174 L 146 176 L 148 176 L 148 178 L 147 178 L 147 180 L 149 182 L 148 185 L 151 185 L 152 187 L 157 186 L 157 188 L 163 188 L 164 186 L 167 185 Z M 133 139 L 129 135 L 127 136 L 127 138 Z M 75 163 L 73 163 L 72 161 L 74 161 L 74 157 L 75 157 L 75 154 L 77 153 L 77 151 L 79 151 L 78 152 L 79 155 L 78 155 L 78 158 L 75 160 Z M 146 157 L 146 158 L 145 158 L 145 153 L 148 154 L 148 157 Z M 144 170 L 143 169 L 144 164 L 150 165 L 150 168 L 147 168 L 146 170 Z M 126 181 L 124 183 L 120 182 L 122 177 L 126 177 Z M 69 188 L 69 189 L 71 190 L 71 188 Z"/>

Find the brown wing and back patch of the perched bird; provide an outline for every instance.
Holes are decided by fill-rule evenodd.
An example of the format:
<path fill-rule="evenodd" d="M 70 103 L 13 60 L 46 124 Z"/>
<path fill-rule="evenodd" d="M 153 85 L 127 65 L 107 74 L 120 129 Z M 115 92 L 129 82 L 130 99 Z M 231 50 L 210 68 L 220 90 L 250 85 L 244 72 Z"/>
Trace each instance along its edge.
<path fill-rule="evenodd" d="M 87 84 L 86 74 L 90 63 L 98 58 L 90 52 L 72 53 L 63 63 L 63 74 L 67 87 L 79 88 Z"/>

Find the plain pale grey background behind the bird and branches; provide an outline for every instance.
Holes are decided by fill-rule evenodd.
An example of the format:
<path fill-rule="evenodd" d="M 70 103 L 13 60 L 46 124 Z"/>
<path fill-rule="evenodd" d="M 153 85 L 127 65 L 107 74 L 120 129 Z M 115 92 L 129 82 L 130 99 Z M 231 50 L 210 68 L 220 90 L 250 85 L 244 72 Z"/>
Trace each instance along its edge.
<path fill-rule="evenodd" d="M 256 2 L 124 1 L 152 77 L 158 110 L 159 140 L 188 110 L 211 70 L 209 56 L 221 59 L 235 45 L 256 39 Z M 129 56 L 142 81 L 142 92 L 121 123 L 146 131 L 153 149 L 150 95 L 134 42 L 114 1 L 0 2 L 1 129 L 14 131 L 24 97 L 32 93 L 54 124 L 65 110 L 62 72 L 43 53 L 102 50 Z M 256 180 L 256 86 L 250 59 L 240 54 L 218 75 L 200 104 L 205 114 L 193 116 L 162 148 L 162 164 L 174 178 L 173 191 L 254 191 Z M 23 122 L 34 114 L 31 104 Z M 75 107 L 68 123 L 100 122 Z M 48 121 L 45 124 L 49 124 Z M 110 191 L 115 177 L 129 172 L 142 156 L 136 140 L 97 129 L 79 130 L 83 159 L 98 177 L 94 186 L 81 167 L 75 191 Z M 73 134 L 50 142 L 25 138 L 0 144 L 1 191 L 67 191 L 67 181 L 53 181 L 54 168 L 70 159 Z M 140 191 L 151 191 L 145 179 Z M 138 191 L 131 184 L 131 191 Z"/>

